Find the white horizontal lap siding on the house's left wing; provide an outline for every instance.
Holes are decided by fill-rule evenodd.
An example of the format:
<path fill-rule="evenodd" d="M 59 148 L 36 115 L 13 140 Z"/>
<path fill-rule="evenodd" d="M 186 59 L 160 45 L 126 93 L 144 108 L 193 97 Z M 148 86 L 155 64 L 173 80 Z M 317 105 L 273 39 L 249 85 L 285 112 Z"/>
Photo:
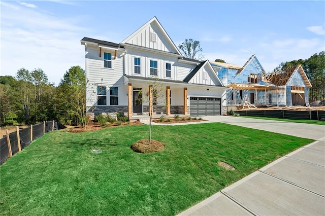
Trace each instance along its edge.
<path fill-rule="evenodd" d="M 118 87 L 119 105 L 125 105 L 125 88 L 123 82 L 123 56 L 117 51 L 114 59 L 114 51 L 102 48 L 102 56 L 99 55 L 100 48 L 88 45 L 86 54 L 86 80 L 88 80 L 86 98 L 87 106 L 96 104 L 97 86 L 106 86 L 109 97 L 109 87 Z M 104 67 L 104 52 L 112 54 L 112 69 Z"/>

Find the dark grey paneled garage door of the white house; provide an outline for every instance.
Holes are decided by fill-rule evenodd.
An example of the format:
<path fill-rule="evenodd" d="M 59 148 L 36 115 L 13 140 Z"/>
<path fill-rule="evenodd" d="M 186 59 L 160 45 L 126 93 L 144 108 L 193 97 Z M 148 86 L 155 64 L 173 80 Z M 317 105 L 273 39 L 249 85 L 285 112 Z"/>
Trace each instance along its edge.
<path fill-rule="evenodd" d="M 190 97 L 190 116 L 219 116 L 220 97 Z"/>

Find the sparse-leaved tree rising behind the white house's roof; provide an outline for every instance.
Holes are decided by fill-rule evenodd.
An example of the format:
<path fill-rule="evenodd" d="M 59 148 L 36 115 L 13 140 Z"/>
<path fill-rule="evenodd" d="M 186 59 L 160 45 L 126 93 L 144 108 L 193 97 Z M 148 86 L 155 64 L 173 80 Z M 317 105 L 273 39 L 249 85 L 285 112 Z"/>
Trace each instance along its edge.
<path fill-rule="evenodd" d="M 185 39 L 185 41 L 178 45 L 178 48 L 183 52 L 186 58 L 202 60 L 202 48 L 199 41 L 193 39 Z"/>

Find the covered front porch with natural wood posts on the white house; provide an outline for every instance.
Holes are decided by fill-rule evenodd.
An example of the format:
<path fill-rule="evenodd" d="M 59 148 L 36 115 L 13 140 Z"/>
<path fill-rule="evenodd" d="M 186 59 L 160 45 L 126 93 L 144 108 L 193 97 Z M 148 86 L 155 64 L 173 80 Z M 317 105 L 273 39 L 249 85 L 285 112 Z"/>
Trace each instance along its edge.
<path fill-rule="evenodd" d="M 188 116 L 187 87 L 185 82 L 161 81 L 142 77 L 127 76 L 127 116 L 130 120 L 168 118 L 175 114 Z"/>

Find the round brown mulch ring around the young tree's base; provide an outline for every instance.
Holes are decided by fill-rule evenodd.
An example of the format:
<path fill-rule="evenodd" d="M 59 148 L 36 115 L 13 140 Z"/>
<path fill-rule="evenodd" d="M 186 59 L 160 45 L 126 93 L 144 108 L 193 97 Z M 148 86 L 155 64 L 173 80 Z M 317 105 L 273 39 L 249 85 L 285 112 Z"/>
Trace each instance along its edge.
<path fill-rule="evenodd" d="M 149 139 L 141 139 L 137 142 L 135 142 L 131 149 L 138 153 L 154 153 L 159 152 L 161 150 L 164 150 L 165 145 L 163 142 L 159 142 L 157 140 L 151 139 L 151 143 L 149 145 Z"/>

